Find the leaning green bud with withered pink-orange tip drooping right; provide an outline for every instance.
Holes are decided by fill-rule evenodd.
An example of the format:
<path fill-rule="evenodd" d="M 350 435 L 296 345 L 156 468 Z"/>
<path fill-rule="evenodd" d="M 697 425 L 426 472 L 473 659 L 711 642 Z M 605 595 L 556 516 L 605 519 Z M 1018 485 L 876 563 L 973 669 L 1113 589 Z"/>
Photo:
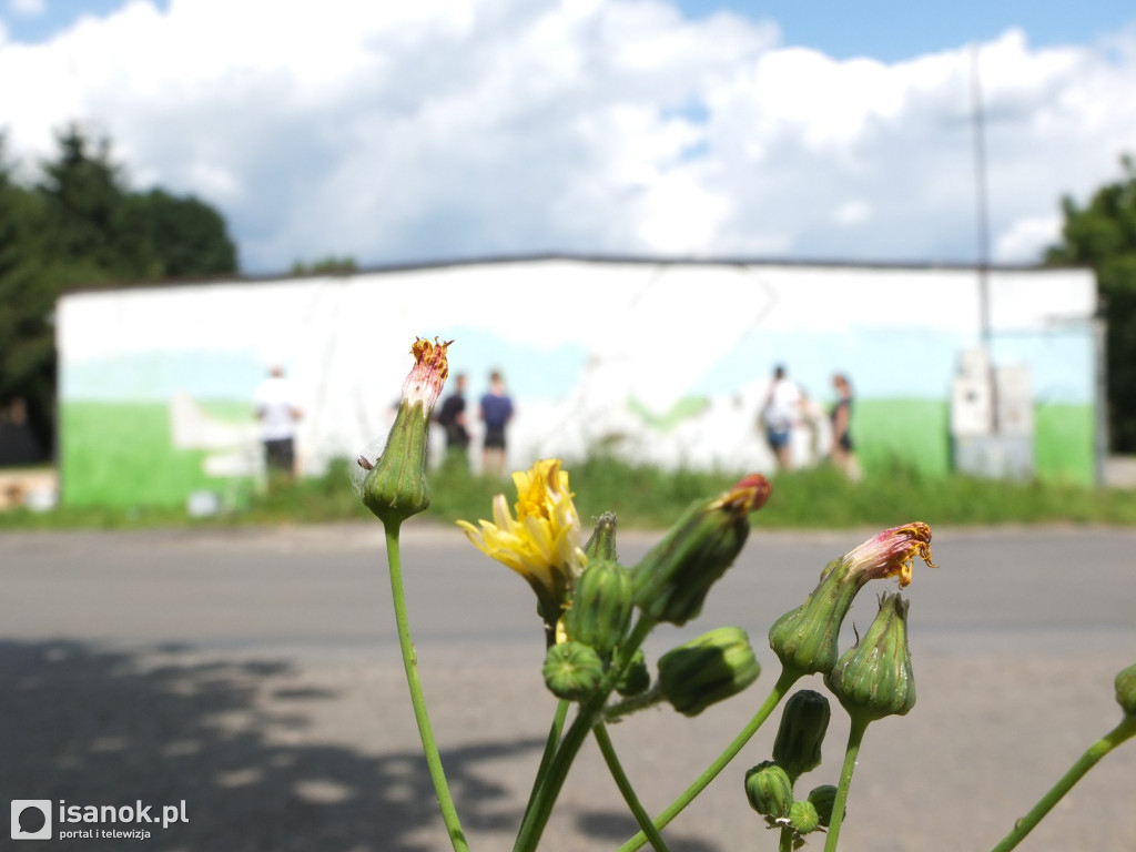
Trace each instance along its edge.
<path fill-rule="evenodd" d="M 840 655 L 841 625 L 857 593 L 869 580 L 883 577 L 899 577 L 903 588 L 911 582 L 916 557 L 936 567 L 930 527 L 921 521 L 885 529 L 829 562 L 804 603 L 769 628 L 769 646 L 782 665 L 802 675 L 827 674 Z"/>

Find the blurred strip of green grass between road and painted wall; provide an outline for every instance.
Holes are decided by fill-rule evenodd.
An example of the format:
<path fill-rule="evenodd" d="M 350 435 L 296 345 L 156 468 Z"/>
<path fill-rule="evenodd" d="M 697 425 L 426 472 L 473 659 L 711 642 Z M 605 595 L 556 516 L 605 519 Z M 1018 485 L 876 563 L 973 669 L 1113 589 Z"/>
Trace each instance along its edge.
<path fill-rule="evenodd" d="M 0 529 L 217 527 L 337 523 L 370 519 L 348 482 L 346 461 L 324 477 L 245 492 L 231 510 L 189 518 L 182 508 L 59 508 L 51 512 L 0 513 Z M 568 466 L 576 506 L 585 525 L 613 511 L 625 527 L 665 528 L 693 500 L 717 494 L 740 478 L 732 473 L 662 471 L 592 457 Z M 474 476 L 444 467 L 429 477 L 434 499 L 424 519 L 451 524 L 491 517 L 491 500 L 516 495 L 508 479 Z M 1136 492 L 1077 484 L 1014 483 L 934 476 L 900 465 L 885 466 L 858 483 L 830 467 L 774 478 L 769 504 L 753 516 L 763 528 L 886 527 L 909 520 L 935 525 L 1106 524 L 1136 526 Z M 375 521 L 377 523 L 377 521 Z"/>

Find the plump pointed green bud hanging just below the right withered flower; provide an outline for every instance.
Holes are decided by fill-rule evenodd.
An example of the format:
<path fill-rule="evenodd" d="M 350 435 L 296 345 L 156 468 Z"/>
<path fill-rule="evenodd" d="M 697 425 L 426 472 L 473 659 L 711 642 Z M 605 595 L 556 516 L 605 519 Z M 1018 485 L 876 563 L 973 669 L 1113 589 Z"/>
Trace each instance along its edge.
<path fill-rule="evenodd" d="M 916 678 L 908 648 L 908 601 L 884 593 L 867 635 L 846 651 L 825 683 L 852 717 L 903 716 L 916 705 Z"/>

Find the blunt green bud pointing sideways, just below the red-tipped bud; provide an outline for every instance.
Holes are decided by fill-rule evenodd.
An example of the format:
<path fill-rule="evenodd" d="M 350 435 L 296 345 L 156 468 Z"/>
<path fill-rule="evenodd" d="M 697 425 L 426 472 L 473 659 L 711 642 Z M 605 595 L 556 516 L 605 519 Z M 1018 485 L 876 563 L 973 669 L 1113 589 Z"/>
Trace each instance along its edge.
<path fill-rule="evenodd" d="M 684 716 L 736 695 L 758 679 L 761 666 L 740 627 L 719 627 L 659 658 L 659 692 Z"/>

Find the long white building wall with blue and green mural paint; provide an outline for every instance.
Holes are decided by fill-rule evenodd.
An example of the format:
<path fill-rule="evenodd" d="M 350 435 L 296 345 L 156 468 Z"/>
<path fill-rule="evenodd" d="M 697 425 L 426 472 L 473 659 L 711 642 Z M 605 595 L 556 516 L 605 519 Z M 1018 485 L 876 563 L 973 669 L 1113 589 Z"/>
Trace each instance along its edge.
<path fill-rule="evenodd" d="M 1038 476 L 1091 482 L 1092 275 L 999 269 L 989 292 L 994 362 L 1031 369 Z M 251 398 L 273 364 L 298 389 L 301 463 L 319 473 L 382 440 L 410 343 L 435 335 L 454 341 L 451 373 L 468 374 L 475 410 L 503 371 L 513 467 L 602 445 L 769 470 L 758 420 L 784 364 L 815 408 L 794 435 L 799 463 L 827 452 L 830 378 L 844 371 L 864 467 L 945 474 L 947 400 L 979 316 L 969 269 L 725 262 L 476 262 L 73 294 L 58 310 L 62 496 L 176 504 L 254 474 Z"/>

